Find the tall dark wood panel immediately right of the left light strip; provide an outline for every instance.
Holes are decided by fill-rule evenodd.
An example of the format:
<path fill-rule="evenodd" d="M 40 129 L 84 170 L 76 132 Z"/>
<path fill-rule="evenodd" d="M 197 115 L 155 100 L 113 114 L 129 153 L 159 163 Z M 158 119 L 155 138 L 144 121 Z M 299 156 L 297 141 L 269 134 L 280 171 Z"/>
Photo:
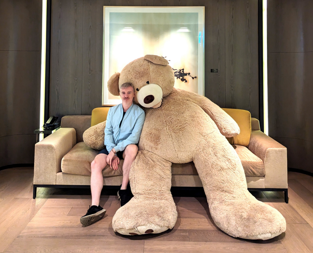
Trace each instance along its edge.
<path fill-rule="evenodd" d="M 81 115 L 83 1 L 51 6 L 49 115 Z"/>

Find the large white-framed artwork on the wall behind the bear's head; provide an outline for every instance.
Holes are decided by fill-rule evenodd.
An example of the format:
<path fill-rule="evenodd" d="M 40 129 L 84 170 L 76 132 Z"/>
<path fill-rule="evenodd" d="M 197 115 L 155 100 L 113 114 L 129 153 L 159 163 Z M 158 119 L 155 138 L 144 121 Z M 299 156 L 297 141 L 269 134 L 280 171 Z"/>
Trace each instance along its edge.
<path fill-rule="evenodd" d="M 204 94 L 204 7 L 103 8 L 102 105 L 121 103 L 107 89 L 115 72 L 146 54 L 162 56 L 174 87 Z"/>

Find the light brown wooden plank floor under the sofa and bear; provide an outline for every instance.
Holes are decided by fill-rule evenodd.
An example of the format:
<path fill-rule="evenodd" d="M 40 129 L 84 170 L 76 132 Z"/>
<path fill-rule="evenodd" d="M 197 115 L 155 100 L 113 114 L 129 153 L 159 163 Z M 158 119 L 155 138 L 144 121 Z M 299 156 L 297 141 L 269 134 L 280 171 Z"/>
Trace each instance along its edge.
<path fill-rule="evenodd" d="M 33 168 L 2 170 L 0 252 L 313 252 L 313 177 L 290 172 L 288 178 L 289 204 L 283 193 L 253 193 L 283 214 L 286 232 L 249 241 L 220 231 L 204 197 L 174 197 L 178 219 L 172 231 L 162 234 L 115 233 L 111 221 L 120 205 L 113 195 L 101 196 L 105 217 L 83 227 L 80 217 L 91 204 L 89 190 L 38 188 L 33 200 Z"/>

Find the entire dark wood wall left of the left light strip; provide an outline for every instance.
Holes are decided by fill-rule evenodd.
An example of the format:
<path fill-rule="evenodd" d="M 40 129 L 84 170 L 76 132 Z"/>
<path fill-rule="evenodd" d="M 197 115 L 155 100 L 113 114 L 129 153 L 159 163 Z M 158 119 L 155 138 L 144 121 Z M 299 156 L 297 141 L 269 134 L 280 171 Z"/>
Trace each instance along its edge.
<path fill-rule="evenodd" d="M 41 19 L 41 0 L 0 1 L 0 167 L 34 162 Z"/>

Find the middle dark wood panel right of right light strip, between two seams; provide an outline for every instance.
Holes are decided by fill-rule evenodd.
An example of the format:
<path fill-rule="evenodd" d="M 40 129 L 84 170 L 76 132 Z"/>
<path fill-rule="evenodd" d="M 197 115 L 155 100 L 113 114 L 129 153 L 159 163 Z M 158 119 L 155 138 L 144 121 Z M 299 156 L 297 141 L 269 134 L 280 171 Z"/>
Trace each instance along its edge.
<path fill-rule="evenodd" d="M 268 63 L 269 135 L 313 142 L 313 52 L 269 53 Z"/>

